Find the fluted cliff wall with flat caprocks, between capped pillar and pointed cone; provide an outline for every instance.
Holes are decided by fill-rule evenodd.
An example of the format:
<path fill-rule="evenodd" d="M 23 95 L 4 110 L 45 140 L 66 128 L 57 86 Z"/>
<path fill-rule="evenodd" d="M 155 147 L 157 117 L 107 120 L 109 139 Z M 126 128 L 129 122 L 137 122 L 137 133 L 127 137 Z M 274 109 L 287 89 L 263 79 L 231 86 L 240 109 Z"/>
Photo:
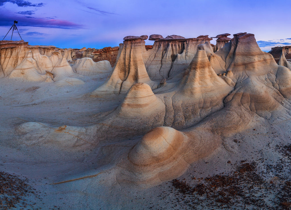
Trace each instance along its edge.
<path fill-rule="evenodd" d="M 145 68 L 151 79 L 161 80 L 184 71 L 194 58 L 197 46 L 212 38 L 208 35 L 189 39 L 177 35 L 163 38 L 154 34 L 149 40 L 155 40 L 155 43 L 152 49 L 143 50 Z"/>

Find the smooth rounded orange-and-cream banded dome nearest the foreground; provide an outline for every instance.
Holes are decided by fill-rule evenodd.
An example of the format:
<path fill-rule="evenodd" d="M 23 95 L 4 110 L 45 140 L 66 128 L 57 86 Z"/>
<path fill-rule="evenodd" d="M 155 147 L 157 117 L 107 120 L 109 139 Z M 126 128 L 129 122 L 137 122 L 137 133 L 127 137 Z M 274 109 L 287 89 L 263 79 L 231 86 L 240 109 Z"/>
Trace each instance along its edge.
<path fill-rule="evenodd" d="M 184 138 L 185 134 L 174 128 L 154 128 L 132 148 L 128 159 L 140 166 L 162 162 L 175 154 Z"/>

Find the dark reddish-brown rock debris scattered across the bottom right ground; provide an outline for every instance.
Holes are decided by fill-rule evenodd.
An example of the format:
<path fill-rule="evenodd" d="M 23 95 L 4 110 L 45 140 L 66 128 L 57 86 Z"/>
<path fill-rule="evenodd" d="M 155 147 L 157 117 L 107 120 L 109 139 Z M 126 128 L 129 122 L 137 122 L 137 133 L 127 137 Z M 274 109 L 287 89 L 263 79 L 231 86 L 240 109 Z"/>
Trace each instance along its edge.
<path fill-rule="evenodd" d="M 270 182 L 259 175 L 256 162 L 241 162 L 229 174 L 189 181 L 174 179 L 169 192 L 163 192 L 160 197 L 173 209 L 291 209 L 290 177 Z M 173 193 L 175 196 L 169 200 Z M 166 208 L 152 206 L 152 209 Z"/>

